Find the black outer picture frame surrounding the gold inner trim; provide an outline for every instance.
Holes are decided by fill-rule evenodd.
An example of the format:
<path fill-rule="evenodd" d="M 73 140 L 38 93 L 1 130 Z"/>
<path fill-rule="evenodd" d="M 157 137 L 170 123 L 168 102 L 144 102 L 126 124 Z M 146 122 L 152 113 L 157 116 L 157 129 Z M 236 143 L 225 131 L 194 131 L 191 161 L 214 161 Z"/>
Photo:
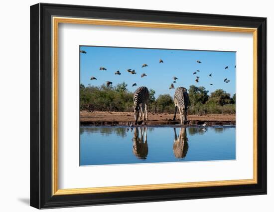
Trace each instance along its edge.
<path fill-rule="evenodd" d="M 258 29 L 258 183 L 52 195 L 52 16 Z M 267 18 L 38 3 L 30 6 L 30 206 L 37 209 L 267 194 Z"/>

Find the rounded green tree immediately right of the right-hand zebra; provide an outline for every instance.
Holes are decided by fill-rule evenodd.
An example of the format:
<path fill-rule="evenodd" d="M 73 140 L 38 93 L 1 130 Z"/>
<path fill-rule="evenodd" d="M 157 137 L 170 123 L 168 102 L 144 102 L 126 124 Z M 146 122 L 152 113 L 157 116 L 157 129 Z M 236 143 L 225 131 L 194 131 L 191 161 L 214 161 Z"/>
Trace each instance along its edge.
<path fill-rule="evenodd" d="M 188 90 L 190 105 L 205 104 L 208 100 L 207 93 L 208 91 L 203 86 L 196 87 L 195 85 L 190 85 Z"/>

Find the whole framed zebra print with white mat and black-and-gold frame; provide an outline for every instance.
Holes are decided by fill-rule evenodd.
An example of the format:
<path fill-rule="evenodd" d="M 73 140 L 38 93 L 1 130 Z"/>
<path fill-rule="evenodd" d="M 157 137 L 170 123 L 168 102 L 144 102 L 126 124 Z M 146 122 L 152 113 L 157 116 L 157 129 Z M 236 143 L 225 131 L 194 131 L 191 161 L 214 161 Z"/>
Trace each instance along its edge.
<path fill-rule="evenodd" d="M 30 205 L 267 193 L 267 19 L 30 7 Z"/>

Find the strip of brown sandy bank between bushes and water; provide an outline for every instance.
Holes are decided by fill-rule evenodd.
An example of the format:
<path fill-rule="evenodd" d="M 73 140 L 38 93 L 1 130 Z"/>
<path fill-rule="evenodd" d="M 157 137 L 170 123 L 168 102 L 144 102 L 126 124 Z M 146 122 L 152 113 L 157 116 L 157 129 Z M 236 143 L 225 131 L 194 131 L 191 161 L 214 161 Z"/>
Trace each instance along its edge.
<path fill-rule="evenodd" d="M 178 114 L 176 120 L 173 121 L 174 114 L 148 114 L 148 121 L 139 121 L 139 125 L 174 125 L 180 124 Z M 236 116 L 223 115 L 223 114 L 210 114 L 210 115 L 188 115 L 187 125 L 201 125 L 206 122 L 207 125 L 235 125 Z M 80 112 L 81 125 L 92 126 L 125 126 L 133 122 L 134 116 L 130 112 Z"/>

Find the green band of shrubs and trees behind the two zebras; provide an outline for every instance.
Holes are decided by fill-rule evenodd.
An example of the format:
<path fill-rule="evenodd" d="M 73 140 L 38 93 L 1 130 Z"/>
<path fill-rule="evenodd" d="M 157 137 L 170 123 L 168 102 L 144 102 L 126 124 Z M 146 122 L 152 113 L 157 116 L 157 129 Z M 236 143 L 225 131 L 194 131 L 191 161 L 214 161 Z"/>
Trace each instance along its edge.
<path fill-rule="evenodd" d="M 235 114 L 236 95 L 232 97 L 222 89 L 217 89 L 210 95 L 203 87 L 191 85 L 188 90 L 188 114 Z M 125 82 L 116 86 L 80 85 L 80 109 L 86 111 L 133 111 L 133 93 L 127 89 Z M 174 113 L 173 97 L 161 94 L 155 98 L 155 91 L 149 90 L 150 113 Z"/>

